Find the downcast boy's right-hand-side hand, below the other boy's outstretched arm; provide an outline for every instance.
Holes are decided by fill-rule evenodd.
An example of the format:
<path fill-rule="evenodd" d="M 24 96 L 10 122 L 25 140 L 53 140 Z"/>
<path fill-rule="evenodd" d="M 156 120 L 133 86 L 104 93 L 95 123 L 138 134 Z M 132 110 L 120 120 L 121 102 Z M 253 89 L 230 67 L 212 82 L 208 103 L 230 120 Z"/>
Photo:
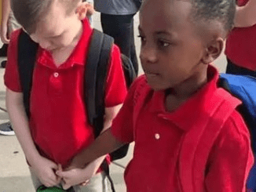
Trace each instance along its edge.
<path fill-rule="evenodd" d="M 85 186 L 95 175 L 97 169 L 98 166 L 94 163 L 91 163 L 86 168 L 72 168 L 68 171 L 63 171 L 62 168 L 59 168 L 56 174 L 57 176 L 62 178 L 62 180 L 64 181 L 62 187 L 64 188 L 64 190 L 67 190 L 68 188 L 75 185 Z"/>

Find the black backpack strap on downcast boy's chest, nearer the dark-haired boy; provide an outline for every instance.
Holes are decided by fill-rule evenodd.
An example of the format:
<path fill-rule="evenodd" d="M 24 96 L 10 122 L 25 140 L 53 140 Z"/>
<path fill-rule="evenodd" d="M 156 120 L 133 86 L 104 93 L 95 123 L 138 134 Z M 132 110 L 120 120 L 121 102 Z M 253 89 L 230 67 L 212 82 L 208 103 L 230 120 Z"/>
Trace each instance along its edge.
<path fill-rule="evenodd" d="M 113 43 L 110 36 L 93 30 L 86 60 L 84 95 L 88 120 L 94 126 L 95 137 L 100 135 L 104 124 L 105 82 Z"/>

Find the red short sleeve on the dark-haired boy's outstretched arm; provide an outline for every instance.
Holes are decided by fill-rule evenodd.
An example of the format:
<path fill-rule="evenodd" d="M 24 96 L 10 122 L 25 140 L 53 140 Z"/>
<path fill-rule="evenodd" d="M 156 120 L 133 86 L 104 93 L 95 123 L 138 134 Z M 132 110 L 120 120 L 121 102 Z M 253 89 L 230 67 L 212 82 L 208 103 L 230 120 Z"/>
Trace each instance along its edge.
<path fill-rule="evenodd" d="M 141 88 L 141 82 L 144 82 L 144 77 L 137 78 L 130 86 L 130 90 L 126 97 L 123 107 L 119 110 L 119 114 L 112 121 L 112 135 L 115 136 L 121 143 L 133 142 L 133 108 L 136 105 L 136 96 L 138 88 Z"/>

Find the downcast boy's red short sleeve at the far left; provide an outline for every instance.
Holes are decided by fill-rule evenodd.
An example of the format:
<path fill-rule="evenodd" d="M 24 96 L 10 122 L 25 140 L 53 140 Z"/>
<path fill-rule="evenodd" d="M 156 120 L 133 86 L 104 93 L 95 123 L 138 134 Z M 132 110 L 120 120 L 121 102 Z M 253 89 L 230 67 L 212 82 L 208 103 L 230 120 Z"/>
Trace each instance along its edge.
<path fill-rule="evenodd" d="M 8 53 L 7 53 L 7 64 L 5 67 L 4 82 L 5 86 L 13 92 L 22 92 L 20 86 L 20 75 L 17 66 L 17 48 L 18 38 L 20 36 L 20 30 L 14 31 L 11 34 Z"/>

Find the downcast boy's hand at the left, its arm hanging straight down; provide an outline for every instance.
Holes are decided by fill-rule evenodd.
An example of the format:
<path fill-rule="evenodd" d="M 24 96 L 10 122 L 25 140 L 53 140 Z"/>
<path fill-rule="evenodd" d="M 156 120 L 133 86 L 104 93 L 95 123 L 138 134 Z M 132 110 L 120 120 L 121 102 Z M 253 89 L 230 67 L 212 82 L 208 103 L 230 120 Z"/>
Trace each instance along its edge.
<path fill-rule="evenodd" d="M 30 164 L 40 182 L 46 187 L 53 187 L 60 183 L 61 178 L 55 174 L 58 165 L 53 161 L 40 157 Z"/>

